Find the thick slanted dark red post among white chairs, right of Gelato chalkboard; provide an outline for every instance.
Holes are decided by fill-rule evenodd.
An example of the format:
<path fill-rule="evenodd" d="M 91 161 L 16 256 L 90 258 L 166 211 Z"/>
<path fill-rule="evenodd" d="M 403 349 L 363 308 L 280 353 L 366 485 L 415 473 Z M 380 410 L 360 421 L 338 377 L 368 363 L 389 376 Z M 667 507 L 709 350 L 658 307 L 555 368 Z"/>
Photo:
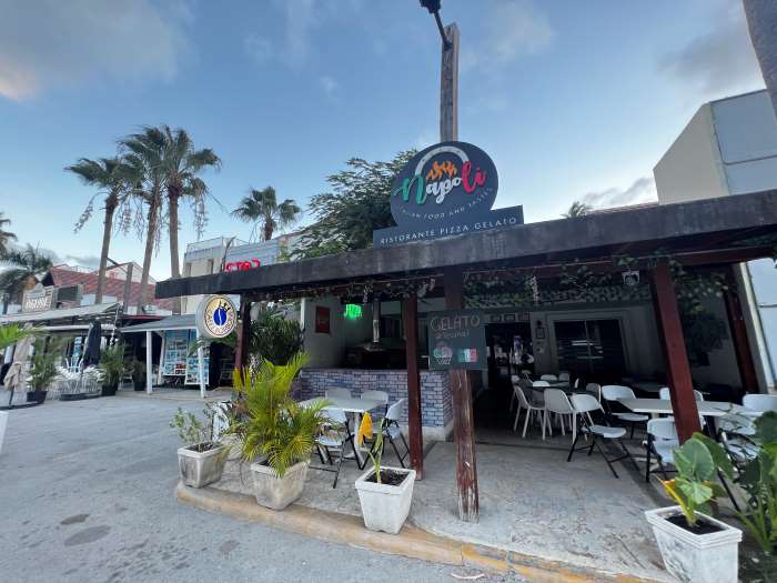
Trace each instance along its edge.
<path fill-rule="evenodd" d="M 669 379 L 672 410 L 677 424 L 680 443 L 690 439 L 695 431 L 702 431 L 699 413 L 694 395 L 688 353 L 685 350 L 683 324 L 677 306 L 677 295 L 672 281 L 672 271 L 667 263 L 659 263 L 650 271 L 653 294 L 663 333 L 663 346 L 666 353 L 666 371 Z"/>

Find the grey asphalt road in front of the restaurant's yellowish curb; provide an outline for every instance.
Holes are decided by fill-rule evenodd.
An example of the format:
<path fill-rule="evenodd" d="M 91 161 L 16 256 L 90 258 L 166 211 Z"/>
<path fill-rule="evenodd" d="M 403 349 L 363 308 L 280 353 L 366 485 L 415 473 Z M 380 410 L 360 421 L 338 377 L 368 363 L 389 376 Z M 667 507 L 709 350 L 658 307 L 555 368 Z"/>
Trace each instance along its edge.
<path fill-rule="evenodd" d="M 114 396 L 12 411 L 0 452 L 0 581 L 397 583 L 478 574 L 178 504 L 179 442 L 168 422 L 180 404 Z"/>

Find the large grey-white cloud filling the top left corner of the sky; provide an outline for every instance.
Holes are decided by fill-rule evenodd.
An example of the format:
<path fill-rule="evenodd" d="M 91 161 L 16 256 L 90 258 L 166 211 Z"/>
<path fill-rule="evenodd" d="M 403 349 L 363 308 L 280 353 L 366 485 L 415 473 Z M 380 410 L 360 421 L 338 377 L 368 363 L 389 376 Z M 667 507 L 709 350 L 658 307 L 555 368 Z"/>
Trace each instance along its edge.
<path fill-rule="evenodd" d="M 170 80 L 191 19 L 148 0 L 0 0 L 0 96 L 13 100 L 103 77 Z"/>

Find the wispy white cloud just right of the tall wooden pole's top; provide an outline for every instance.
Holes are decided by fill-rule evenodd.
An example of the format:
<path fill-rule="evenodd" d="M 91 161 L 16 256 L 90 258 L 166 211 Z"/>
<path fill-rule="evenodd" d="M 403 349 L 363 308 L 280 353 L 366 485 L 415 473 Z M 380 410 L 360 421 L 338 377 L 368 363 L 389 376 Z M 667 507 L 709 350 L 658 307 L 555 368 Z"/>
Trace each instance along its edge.
<path fill-rule="evenodd" d="M 488 6 L 482 39 L 474 48 L 464 48 L 461 68 L 494 70 L 519 57 L 546 50 L 556 36 L 544 12 L 529 0 L 500 0 Z"/>

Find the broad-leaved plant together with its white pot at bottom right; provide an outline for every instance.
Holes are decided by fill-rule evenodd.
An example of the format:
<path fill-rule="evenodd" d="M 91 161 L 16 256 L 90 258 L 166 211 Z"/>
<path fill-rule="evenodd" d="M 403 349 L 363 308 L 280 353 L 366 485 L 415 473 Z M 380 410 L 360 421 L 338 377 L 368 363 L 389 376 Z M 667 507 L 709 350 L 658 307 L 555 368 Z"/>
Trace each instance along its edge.
<path fill-rule="evenodd" d="M 709 515 L 710 500 L 726 494 L 716 468 L 733 474 L 726 452 L 697 433 L 674 460 L 677 475 L 663 484 L 677 505 L 645 512 L 666 570 L 687 583 L 736 583 L 741 531 Z"/>

